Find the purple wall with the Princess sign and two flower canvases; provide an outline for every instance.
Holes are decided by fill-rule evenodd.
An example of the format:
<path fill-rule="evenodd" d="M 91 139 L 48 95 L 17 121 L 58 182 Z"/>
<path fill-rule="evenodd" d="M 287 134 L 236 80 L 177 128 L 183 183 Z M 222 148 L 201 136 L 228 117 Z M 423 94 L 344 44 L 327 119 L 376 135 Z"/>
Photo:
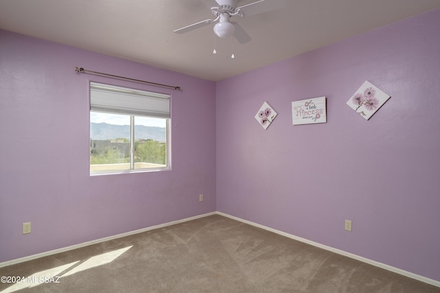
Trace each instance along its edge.
<path fill-rule="evenodd" d="M 217 211 L 440 281 L 439 36 L 433 10 L 218 82 Z M 369 121 L 364 80 L 392 96 Z M 292 126 L 320 96 L 327 124 Z"/>

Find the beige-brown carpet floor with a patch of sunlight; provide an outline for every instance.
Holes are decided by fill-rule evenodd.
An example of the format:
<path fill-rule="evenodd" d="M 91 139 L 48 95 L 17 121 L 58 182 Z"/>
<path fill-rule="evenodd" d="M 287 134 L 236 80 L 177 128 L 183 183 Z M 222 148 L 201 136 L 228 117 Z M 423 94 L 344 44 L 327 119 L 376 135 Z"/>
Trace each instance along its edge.
<path fill-rule="evenodd" d="M 440 292 L 211 215 L 0 268 L 0 292 Z M 10 280 L 12 281 L 12 280 Z"/>

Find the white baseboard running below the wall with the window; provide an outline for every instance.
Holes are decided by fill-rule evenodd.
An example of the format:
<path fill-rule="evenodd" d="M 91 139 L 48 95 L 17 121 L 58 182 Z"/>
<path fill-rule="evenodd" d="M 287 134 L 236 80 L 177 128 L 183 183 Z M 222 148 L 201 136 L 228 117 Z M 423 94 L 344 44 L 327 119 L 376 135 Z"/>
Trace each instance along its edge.
<path fill-rule="evenodd" d="M 91 244 L 97 244 L 97 243 L 100 243 L 100 242 L 109 241 L 109 240 L 113 240 L 113 239 L 117 239 L 117 238 L 120 238 L 120 237 L 129 236 L 129 235 L 133 235 L 133 234 L 137 234 L 137 233 L 142 233 L 142 232 L 150 231 L 150 230 L 157 229 L 157 228 L 163 228 L 163 227 L 171 226 L 171 225 L 174 225 L 174 224 L 188 222 L 190 220 L 195 220 L 195 219 L 198 219 L 198 218 L 204 218 L 204 217 L 207 217 L 208 215 L 214 215 L 214 214 L 215 214 L 215 212 L 204 213 L 203 215 L 195 215 L 194 217 L 185 218 L 185 219 L 177 220 L 177 221 L 173 221 L 173 222 L 168 222 L 168 223 L 165 223 L 165 224 L 159 224 L 159 225 L 151 226 L 151 227 L 148 227 L 148 228 L 142 228 L 142 229 L 139 229 L 139 230 L 130 231 L 130 232 L 126 232 L 126 233 L 121 233 L 121 234 L 118 234 L 118 235 L 104 237 L 104 238 L 92 240 L 92 241 L 89 241 L 89 242 L 84 242 L 84 243 L 81 243 L 81 244 L 67 246 L 67 247 L 64 247 L 64 248 L 58 248 L 58 249 L 55 249 L 55 250 L 47 251 L 45 253 L 38 253 L 36 255 L 30 255 L 28 257 L 21 257 L 19 259 L 12 259 L 11 261 L 4 261 L 4 262 L 0 263 L 0 268 L 2 268 L 4 266 L 10 266 L 10 265 L 15 264 L 15 263 L 22 263 L 23 261 L 30 261 L 32 259 L 38 259 L 40 257 L 46 257 L 47 255 L 54 255 L 56 253 L 64 253 L 65 251 L 73 250 L 73 249 L 76 249 L 76 248 L 81 248 L 81 247 L 84 247 L 84 246 L 89 246 Z"/>

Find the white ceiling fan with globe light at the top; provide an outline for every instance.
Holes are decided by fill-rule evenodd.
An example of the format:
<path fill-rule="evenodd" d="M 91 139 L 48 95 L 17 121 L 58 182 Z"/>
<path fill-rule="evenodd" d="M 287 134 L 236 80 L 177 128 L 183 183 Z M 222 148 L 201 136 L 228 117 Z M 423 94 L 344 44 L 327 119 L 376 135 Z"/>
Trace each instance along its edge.
<path fill-rule="evenodd" d="M 204 2 L 214 3 L 213 0 L 204 0 Z M 239 43 L 244 44 L 248 43 L 251 38 L 239 23 L 230 21 L 232 16 L 251 16 L 282 8 L 286 4 L 286 0 L 259 0 L 237 7 L 238 0 L 215 0 L 215 2 L 218 6 L 211 7 L 211 12 L 214 14 L 215 19 L 206 19 L 198 23 L 192 23 L 192 25 L 181 27 L 174 32 L 184 34 L 219 21 L 214 25 L 214 33 L 217 36 L 220 38 L 228 38 L 233 35 Z"/>

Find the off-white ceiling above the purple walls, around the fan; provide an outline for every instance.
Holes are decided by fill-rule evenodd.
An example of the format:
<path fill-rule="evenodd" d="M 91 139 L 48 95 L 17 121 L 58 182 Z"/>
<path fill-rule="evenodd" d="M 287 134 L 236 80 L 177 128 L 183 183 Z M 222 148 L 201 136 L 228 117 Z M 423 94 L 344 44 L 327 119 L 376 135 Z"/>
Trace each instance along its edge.
<path fill-rule="evenodd" d="M 440 0 L 287 0 L 282 10 L 234 16 L 252 37 L 243 45 L 214 38 L 212 25 L 173 32 L 212 19 L 206 0 L 0 0 L 0 28 L 218 81 L 439 7 Z"/>

